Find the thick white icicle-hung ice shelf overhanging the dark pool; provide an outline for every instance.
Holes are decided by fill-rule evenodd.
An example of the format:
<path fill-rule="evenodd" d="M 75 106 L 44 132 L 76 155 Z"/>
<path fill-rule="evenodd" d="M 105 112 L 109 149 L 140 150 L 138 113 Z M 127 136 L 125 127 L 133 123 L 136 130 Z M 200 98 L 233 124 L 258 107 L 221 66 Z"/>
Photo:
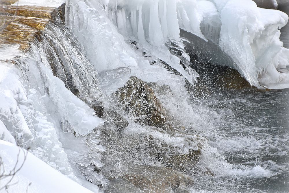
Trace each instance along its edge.
<path fill-rule="evenodd" d="M 269 89 L 289 87 L 289 49 L 282 47 L 278 30 L 286 25 L 288 16 L 281 11 L 258 8 L 251 0 L 102 3 L 107 6 L 112 23 L 126 37 L 161 45 L 168 39 L 179 40 L 181 28 L 216 43 L 222 55 L 229 56 L 225 57 L 227 61 L 220 60 L 237 69 L 251 85 Z M 154 9 L 156 3 L 158 10 Z M 151 21 L 145 19 L 148 16 Z"/>

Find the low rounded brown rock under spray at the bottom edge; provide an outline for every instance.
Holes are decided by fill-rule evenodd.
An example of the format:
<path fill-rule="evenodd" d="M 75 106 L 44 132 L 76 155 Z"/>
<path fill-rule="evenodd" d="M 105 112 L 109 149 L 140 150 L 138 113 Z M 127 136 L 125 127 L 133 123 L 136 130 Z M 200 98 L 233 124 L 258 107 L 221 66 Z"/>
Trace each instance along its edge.
<path fill-rule="evenodd" d="M 177 172 L 168 167 L 133 166 L 124 178 L 144 192 L 172 192 L 180 185 Z"/>

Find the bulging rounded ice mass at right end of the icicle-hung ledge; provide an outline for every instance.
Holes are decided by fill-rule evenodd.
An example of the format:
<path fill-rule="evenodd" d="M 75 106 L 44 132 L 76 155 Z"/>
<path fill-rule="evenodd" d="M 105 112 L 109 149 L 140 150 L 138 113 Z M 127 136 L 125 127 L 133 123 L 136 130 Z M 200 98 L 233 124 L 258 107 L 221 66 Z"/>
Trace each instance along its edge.
<path fill-rule="evenodd" d="M 278 10 L 257 8 L 249 0 L 228 1 L 219 12 L 219 45 L 236 62 L 240 73 L 254 86 L 287 87 L 289 50 L 282 47 L 278 28 L 286 25 L 288 16 Z"/>

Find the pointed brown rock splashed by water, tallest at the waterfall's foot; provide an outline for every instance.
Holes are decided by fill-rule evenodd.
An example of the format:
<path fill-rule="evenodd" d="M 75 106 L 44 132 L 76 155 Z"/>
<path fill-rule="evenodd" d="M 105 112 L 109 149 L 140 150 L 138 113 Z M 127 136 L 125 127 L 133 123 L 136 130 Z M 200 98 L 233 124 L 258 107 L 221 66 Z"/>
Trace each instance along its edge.
<path fill-rule="evenodd" d="M 136 122 L 160 128 L 166 124 L 166 111 L 146 82 L 131 76 L 114 94 L 125 111 L 136 117 Z"/>

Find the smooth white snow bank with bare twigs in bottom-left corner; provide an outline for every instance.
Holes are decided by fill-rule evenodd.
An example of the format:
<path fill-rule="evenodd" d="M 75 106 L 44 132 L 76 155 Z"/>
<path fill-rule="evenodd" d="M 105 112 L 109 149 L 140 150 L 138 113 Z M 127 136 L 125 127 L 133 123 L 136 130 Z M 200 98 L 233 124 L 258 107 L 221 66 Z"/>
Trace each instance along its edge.
<path fill-rule="evenodd" d="M 21 148 L 17 147 L 16 145 L 0 140 L 0 156 L 3 160 L 5 173 L 10 172 L 14 168 L 17 157 L 18 163 L 16 165 L 16 169 L 20 168 L 24 161 L 24 153 L 26 154 L 26 151 L 22 151 Z M 10 178 L 1 179 L 0 188 L 2 188 L 3 185 L 8 182 L 8 180 L 10 180 Z M 90 190 L 87 190 L 86 188 L 67 178 L 60 172 L 54 170 L 29 152 L 27 153 L 27 158 L 23 164 L 23 167 L 18 173 L 16 173 L 11 184 L 14 184 L 8 188 L 8 191 L 11 193 L 25 192 L 26 190 L 27 192 L 33 193 L 91 192 Z"/>

